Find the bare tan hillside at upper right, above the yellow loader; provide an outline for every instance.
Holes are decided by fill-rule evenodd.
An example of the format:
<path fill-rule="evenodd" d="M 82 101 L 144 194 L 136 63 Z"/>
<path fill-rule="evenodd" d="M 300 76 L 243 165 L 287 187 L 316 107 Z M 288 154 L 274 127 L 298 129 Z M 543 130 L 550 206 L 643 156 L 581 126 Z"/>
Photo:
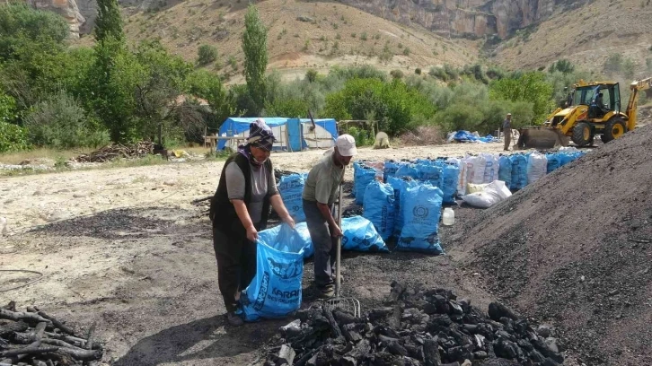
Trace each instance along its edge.
<path fill-rule="evenodd" d="M 596 72 L 619 53 L 637 63 L 645 74 L 652 57 L 652 4 L 649 0 L 596 0 L 562 12 L 522 36 L 502 42 L 493 59 L 510 68 L 534 68 L 568 58 Z"/>

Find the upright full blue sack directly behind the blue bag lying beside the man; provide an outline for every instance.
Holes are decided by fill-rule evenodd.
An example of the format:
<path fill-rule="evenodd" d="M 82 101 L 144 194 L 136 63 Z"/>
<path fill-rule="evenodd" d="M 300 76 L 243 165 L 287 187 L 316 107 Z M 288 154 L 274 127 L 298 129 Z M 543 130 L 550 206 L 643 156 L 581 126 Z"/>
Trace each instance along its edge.
<path fill-rule="evenodd" d="M 394 189 L 377 180 L 366 186 L 363 217 L 374 224 L 383 240 L 394 233 Z"/>

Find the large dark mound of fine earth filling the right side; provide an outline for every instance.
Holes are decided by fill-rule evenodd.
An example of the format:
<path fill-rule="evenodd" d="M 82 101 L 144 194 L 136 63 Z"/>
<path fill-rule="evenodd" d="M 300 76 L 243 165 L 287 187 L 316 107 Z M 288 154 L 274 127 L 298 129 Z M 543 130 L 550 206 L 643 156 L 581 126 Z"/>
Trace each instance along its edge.
<path fill-rule="evenodd" d="M 652 364 L 652 126 L 455 228 L 449 253 L 577 362 Z"/>

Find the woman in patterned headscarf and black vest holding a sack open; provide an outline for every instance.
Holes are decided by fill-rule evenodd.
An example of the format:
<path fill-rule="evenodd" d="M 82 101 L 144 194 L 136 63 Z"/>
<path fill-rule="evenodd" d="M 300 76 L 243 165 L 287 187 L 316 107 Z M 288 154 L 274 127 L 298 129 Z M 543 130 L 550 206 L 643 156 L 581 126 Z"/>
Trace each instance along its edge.
<path fill-rule="evenodd" d="M 295 221 L 278 194 L 269 153 L 276 139 L 261 118 L 249 127 L 247 144 L 225 162 L 210 206 L 213 246 L 220 292 L 229 324 L 241 326 L 235 314 L 240 292 L 256 274 L 258 231 L 267 226 L 269 205 L 294 228 Z"/>

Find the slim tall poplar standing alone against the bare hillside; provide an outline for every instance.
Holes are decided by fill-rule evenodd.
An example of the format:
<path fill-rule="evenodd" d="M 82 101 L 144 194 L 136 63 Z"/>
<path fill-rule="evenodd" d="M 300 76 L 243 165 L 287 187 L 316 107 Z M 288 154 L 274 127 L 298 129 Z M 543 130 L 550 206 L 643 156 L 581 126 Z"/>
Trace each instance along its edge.
<path fill-rule="evenodd" d="M 244 51 L 244 78 L 251 99 L 255 103 L 255 113 L 265 105 L 265 70 L 268 64 L 267 29 L 260 20 L 258 9 L 249 5 L 244 16 L 244 34 L 242 51 Z"/>

